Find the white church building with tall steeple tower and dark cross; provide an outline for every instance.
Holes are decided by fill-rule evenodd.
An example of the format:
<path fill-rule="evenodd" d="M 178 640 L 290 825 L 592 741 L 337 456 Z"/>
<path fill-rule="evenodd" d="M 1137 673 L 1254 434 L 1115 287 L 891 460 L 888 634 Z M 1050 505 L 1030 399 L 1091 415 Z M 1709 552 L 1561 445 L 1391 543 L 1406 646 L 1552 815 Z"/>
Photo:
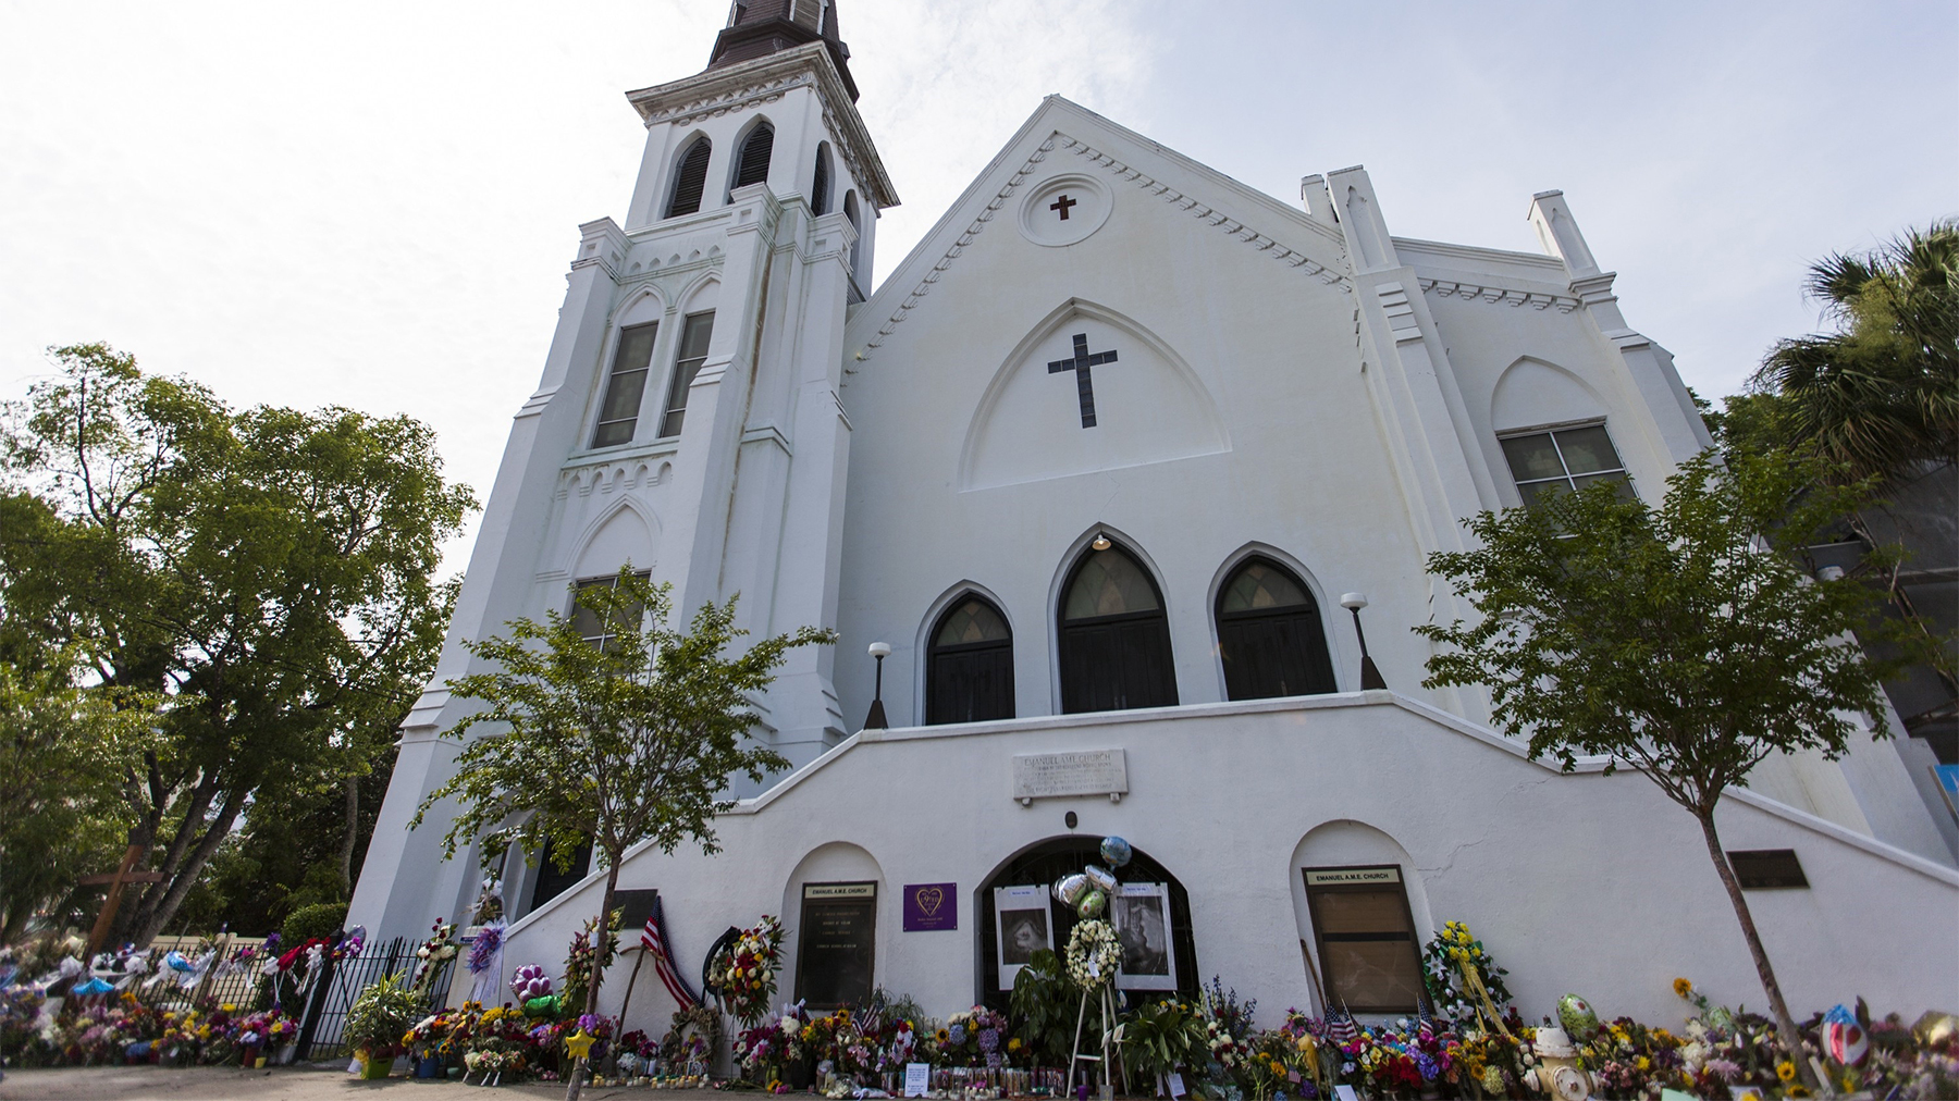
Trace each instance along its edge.
<path fill-rule="evenodd" d="M 741 594 L 754 633 L 840 633 L 760 701 L 795 768 L 735 791 L 723 852 L 621 870 L 688 974 L 772 913 L 782 1001 L 1003 1005 L 1066 936 L 1048 886 L 1121 835 L 1130 989 L 1218 976 L 1264 1025 L 1412 1011 L 1416 952 L 1459 919 L 1526 1017 L 1575 991 L 1673 1025 L 1675 976 L 1761 1007 L 1687 811 L 1420 686 L 1410 627 L 1465 613 L 1424 558 L 1463 517 L 1597 478 L 1657 500 L 1710 445 L 1563 194 L 1528 202 L 1542 253 L 1397 237 L 1360 167 L 1281 202 L 1050 96 L 872 288 L 897 192 L 827 0 L 737 2 L 703 72 L 627 98 L 631 204 L 580 227 L 511 396 L 351 923 L 464 917 L 478 854 L 443 860 L 441 809 L 407 829 L 470 707 L 445 684 L 466 641 L 631 560 L 684 615 Z M 1777 758 L 1722 803 L 1798 1017 L 1959 1005 L 1959 837 L 1912 748 Z M 505 970 L 556 972 L 603 874 L 498 874 Z M 627 1027 L 670 1011 L 641 981 Z"/>

